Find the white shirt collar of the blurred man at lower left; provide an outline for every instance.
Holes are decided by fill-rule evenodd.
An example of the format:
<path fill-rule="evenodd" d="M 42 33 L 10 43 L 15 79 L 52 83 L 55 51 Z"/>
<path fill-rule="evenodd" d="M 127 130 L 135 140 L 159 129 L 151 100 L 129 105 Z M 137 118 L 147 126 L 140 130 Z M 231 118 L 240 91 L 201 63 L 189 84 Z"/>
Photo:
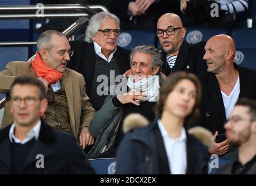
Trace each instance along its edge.
<path fill-rule="evenodd" d="M 9 130 L 10 142 L 13 142 L 12 140 L 14 140 L 16 144 L 23 145 L 23 144 L 26 144 L 26 142 L 29 142 L 30 140 L 32 140 L 33 138 L 37 140 L 39 137 L 40 128 L 41 128 L 41 120 L 38 120 L 37 124 L 35 124 L 35 126 L 29 131 L 29 133 L 27 133 L 27 136 L 24 138 L 24 140 L 21 141 L 18 138 L 16 138 L 14 135 L 15 124 L 13 123 L 12 126 L 10 126 L 10 130 Z"/>

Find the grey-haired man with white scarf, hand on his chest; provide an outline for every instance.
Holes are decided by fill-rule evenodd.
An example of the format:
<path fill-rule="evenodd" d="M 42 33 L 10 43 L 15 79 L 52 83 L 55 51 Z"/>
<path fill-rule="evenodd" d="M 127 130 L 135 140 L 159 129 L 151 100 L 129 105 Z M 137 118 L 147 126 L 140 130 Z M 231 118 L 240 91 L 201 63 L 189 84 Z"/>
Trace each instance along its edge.
<path fill-rule="evenodd" d="M 140 113 L 154 121 L 154 106 L 159 98 L 161 55 L 158 49 L 148 45 L 135 47 L 130 54 L 130 73 L 117 95 L 108 96 L 104 105 L 95 113 L 90 123 L 90 133 L 97 138 L 87 158 L 115 157 L 116 148 L 122 140 L 123 119 L 130 113 Z"/>

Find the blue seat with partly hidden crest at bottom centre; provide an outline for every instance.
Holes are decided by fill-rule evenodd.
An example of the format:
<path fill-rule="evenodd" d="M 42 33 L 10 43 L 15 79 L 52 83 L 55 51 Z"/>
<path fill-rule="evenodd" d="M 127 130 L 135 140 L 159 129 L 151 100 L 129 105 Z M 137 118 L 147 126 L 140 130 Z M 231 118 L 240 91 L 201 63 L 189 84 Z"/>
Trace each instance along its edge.
<path fill-rule="evenodd" d="M 97 174 L 115 174 L 116 158 L 88 159 Z"/>

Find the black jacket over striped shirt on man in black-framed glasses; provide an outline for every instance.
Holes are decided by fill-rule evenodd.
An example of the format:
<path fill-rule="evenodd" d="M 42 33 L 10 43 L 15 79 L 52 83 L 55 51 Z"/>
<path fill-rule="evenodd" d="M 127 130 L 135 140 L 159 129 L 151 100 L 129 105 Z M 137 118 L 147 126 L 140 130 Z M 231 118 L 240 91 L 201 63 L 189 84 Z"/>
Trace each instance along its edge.
<path fill-rule="evenodd" d="M 168 76 L 169 74 L 184 70 L 194 74 L 200 74 L 207 70 L 207 63 L 203 60 L 205 42 L 198 42 L 196 44 L 189 44 L 183 41 L 180 47 L 175 66 L 170 69 L 166 63 L 166 53 L 162 52 L 162 72 Z"/>

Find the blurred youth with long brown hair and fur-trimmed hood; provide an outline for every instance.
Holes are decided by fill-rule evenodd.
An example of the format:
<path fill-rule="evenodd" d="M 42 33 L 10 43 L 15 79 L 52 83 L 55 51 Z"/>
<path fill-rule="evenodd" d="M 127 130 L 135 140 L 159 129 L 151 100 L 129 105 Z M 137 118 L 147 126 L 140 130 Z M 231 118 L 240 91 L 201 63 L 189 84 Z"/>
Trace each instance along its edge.
<path fill-rule="evenodd" d="M 212 134 L 186 128 L 196 119 L 201 85 L 192 73 L 173 73 L 163 83 L 157 103 L 158 120 L 128 116 L 117 152 L 117 174 L 207 174 Z M 130 121 L 127 121 L 130 120 Z M 202 142 L 195 138 L 201 138 Z"/>

